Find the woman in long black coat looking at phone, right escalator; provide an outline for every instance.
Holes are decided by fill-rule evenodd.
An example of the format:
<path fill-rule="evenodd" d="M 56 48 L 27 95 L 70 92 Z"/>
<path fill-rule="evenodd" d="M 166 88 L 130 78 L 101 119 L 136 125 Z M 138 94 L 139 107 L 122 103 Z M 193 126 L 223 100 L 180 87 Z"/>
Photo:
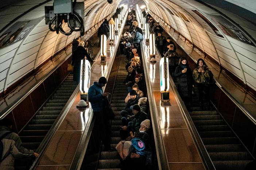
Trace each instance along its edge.
<path fill-rule="evenodd" d="M 181 57 L 179 66 L 176 68 L 174 77 L 177 78 L 177 88 L 179 95 L 185 103 L 187 109 L 190 109 L 190 100 L 192 97 L 193 76 L 192 71 L 187 64 L 187 58 Z"/>

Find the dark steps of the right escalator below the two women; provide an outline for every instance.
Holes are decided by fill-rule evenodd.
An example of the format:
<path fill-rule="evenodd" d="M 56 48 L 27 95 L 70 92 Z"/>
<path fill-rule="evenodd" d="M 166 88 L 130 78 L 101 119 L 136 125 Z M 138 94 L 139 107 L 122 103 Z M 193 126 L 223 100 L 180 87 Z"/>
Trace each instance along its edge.
<path fill-rule="evenodd" d="M 201 109 L 198 92 L 191 105 L 190 117 L 216 170 L 244 170 L 253 158 L 214 106 Z"/>

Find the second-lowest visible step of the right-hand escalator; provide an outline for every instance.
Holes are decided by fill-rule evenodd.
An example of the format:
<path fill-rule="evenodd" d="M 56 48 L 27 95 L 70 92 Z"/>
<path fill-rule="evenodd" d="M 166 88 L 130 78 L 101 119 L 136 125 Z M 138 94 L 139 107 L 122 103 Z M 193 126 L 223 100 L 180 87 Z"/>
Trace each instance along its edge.
<path fill-rule="evenodd" d="M 212 161 L 242 161 L 247 160 L 247 152 L 211 152 L 209 156 Z"/>

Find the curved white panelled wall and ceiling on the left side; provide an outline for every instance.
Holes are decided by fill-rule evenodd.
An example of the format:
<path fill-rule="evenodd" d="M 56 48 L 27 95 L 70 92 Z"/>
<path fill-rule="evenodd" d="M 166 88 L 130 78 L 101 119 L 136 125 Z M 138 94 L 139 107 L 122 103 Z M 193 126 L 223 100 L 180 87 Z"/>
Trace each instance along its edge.
<path fill-rule="evenodd" d="M 98 21 L 109 19 L 110 13 L 115 12 L 119 2 L 120 0 L 108 4 L 105 0 L 84 1 L 85 15 L 87 14 L 85 31 L 94 27 Z M 50 5 L 53 5 L 53 1 L 24 0 L 19 4 L 5 7 L 0 13 L 0 19 L 4 21 L 0 29 L 11 23 L 0 32 L 0 92 L 38 68 L 79 36 L 79 32 L 65 36 L 49 31 L 49 26 L 44 20 L 44 6 Z M 97 8 L 94 6 L 102 6 L 102 8 L 95 13 Z M 96 16 L 97 13 L 100 14 Z M 13 21 L 15 18 L 17 20 Z M 70 30 L 66 23 L 63 24 L 63 29 L 67 32 Z"/>

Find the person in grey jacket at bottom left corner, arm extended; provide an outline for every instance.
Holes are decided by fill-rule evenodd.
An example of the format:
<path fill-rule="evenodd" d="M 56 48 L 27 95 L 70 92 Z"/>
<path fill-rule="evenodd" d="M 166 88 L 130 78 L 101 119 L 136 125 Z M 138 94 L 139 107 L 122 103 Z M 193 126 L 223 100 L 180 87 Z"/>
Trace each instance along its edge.
<path fill-rule="evenodd" d="M 22 147 L 22 141 L 18 134 L 11 132 L 12 122 L 6 118 L 0 120 L 0 138 L 3 138 L 3 153 L 0 161 L 0 169 L 14 170 L 15 158 L 38 158 L 38 153 Z"/>

